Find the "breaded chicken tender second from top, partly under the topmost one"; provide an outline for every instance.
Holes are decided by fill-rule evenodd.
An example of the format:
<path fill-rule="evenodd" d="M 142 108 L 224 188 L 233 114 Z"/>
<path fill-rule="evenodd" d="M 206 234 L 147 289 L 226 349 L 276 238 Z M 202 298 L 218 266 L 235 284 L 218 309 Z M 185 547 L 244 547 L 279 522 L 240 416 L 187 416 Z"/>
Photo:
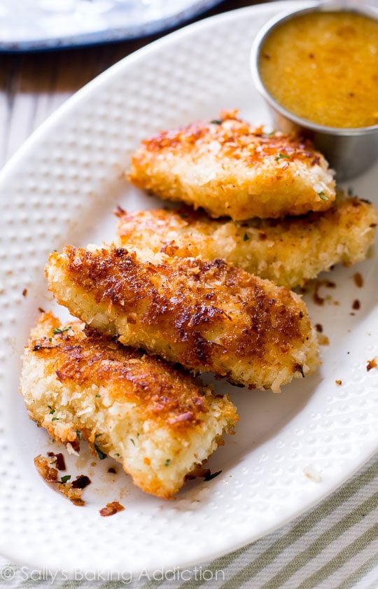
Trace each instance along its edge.
<path fill-rule="evenodd" d="M 193 209 L 121 211 L 118 216 L 118 245 L 153 261 L 165 256 L 224 258 L 288 288 L 303 286 L 335 264 L 364 260 L 378 222 L 377 209 L 358 198 L 337 200 L 323 213 L 280 221 L 215 220 Z"/>

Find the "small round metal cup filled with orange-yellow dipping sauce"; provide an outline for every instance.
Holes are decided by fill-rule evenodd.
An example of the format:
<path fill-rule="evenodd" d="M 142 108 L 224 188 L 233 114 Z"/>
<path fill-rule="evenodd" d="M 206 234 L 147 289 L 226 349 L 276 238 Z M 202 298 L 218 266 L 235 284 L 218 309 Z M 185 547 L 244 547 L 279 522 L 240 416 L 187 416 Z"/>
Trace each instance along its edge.
<path fill-rule="evenodd" d="M 337 172 L 378 157 L 378 13 L 314 4 L 267 22 L 251 50 L 253 81 L 274 125 L 313 139 Z"/>

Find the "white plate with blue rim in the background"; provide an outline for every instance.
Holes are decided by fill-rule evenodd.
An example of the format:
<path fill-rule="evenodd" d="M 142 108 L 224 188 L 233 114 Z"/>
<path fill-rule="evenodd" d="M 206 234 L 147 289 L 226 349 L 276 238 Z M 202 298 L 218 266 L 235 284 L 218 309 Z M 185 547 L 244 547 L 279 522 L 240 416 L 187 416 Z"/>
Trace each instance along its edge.
<path fill-rule="evenodd" d="M 221 0 L 0 0 L 0 52 L 138 39 L 177 27 Z"/>

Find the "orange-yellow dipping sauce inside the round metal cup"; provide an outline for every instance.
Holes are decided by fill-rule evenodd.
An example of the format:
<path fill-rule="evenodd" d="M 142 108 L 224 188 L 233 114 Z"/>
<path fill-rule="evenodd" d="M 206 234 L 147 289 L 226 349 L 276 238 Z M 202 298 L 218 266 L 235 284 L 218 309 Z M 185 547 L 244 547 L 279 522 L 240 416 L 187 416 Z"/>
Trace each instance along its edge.
<path fill-rule="evenodd" d="M 378 20 L 314 11 L 277 25 L 260 53 L 269 94 L 288 111 L 327 127 L 378 124 Z"/>

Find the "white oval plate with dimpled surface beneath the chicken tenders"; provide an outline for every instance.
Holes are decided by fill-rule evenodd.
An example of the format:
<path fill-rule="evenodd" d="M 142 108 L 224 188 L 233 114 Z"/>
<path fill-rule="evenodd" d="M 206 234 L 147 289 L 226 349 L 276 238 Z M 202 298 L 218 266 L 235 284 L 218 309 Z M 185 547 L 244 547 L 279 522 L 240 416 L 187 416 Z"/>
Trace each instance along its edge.
<path fill-rule="evenodd" d="M 238 107 L 268 122 L 248 71 L 253 36 L 268 18 L 297 3 L 255 6 L 182 29 L 127 57 L 87 85 L 45 123 L 3 169 L 1 188 L 0 553 L 29 566 L 102 571 L 155 570 L 204 562 L 294 518 L 340 485 L 377 450 L 377 261 L 332 272 L 335 289 L 322 307 L 316 375 L 281 395 L 230 391 L 241 420 L 211 457 L 213 480 L 197 479 L 174 501 L 110 476 L 109 459 L 69 458 L 68 473 L 89 473 L 87 504 L 73 506 L 38 476 L 33 457 L 56 448 L 27 419 L 18 394 L 20 356 L 38 307 L 54 308 L 43 266 L 52 249 L 111 240 L 112 211 L 159 206 L 121 178 L 140 139 Z M 377 167 L 353 182 L 372 198 Z M 27 289 L 27 296 L 22 295 Z M 353 300 L 360 310 L 351 314 Z M 61 314 L 62 312 L 59 311 Z M 63 313 L 64 316 L 64 313 Z M 375 338 L 375 339 L 374 339 Z M 335 380 L 342 380 L 337 386 Z M 101 518 L 120 500 L 125 511 Z"/>

